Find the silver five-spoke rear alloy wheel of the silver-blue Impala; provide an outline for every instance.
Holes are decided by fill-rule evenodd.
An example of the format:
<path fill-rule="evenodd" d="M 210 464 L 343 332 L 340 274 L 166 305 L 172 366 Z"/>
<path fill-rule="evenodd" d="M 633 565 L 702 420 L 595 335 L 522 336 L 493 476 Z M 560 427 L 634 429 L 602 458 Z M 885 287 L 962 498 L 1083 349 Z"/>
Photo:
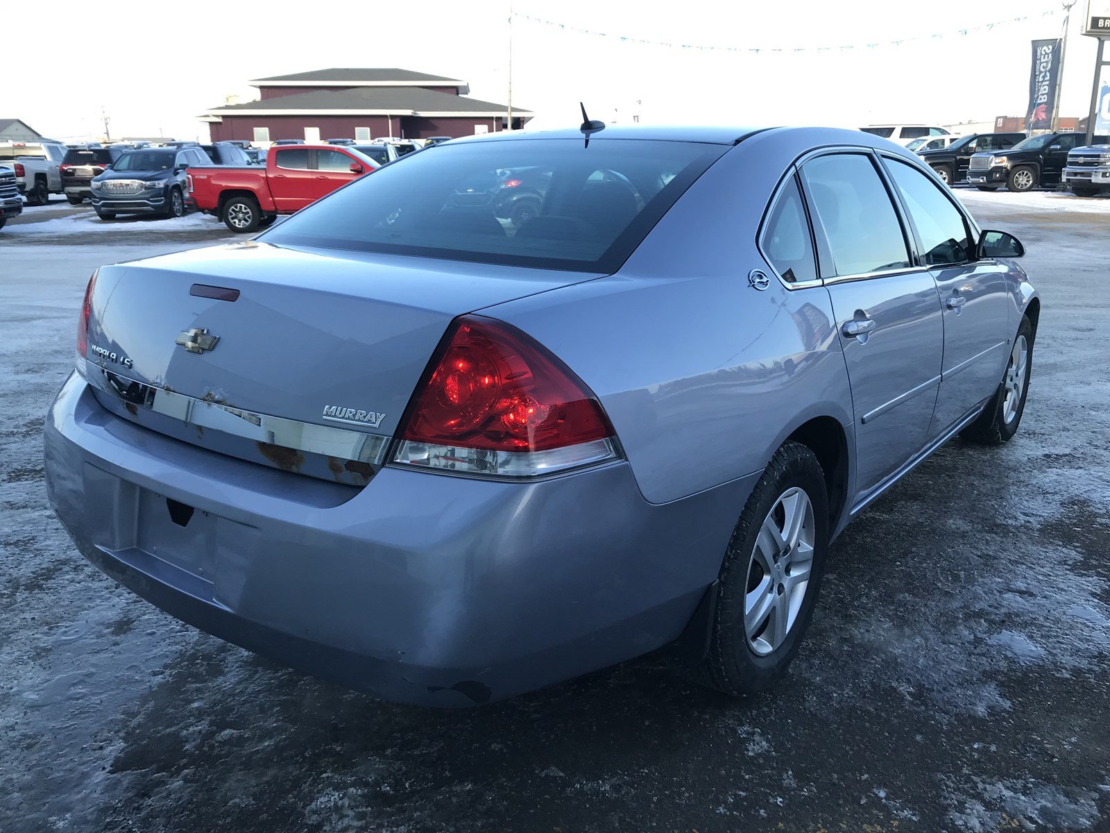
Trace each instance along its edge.
<path fill-rule="evenodd" d="M 805 490 L 775 501 L 748 561 L 744 630 L 748 648 L 766 656 L 786 640 L 806 599 L 814 565 L 814 505 Z"/>

